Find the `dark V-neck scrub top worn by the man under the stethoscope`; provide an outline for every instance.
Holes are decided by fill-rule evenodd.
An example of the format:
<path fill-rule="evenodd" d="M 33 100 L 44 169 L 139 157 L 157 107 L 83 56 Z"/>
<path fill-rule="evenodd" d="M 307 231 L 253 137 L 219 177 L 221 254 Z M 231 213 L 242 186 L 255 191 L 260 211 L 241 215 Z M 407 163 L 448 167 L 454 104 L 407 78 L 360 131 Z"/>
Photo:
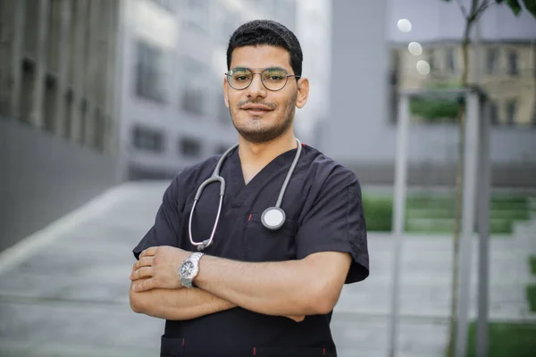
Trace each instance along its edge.
<path fill-rule="evenodd" d="M 242 262 L 273 262 L 305 258 L 323 251 L 350 253 L 346 283 L 369 274 L 361 187 L 351 170 L 304 145 L 281 208 L 286 221 L 279 230 L 264 228 L 261 214 L 275 205 L 297 149 L 276 157 L 247 185 L 238 150 L 222 165 L 225 179 L 220 222 L 213 245 L 204 253 Z M 155 224 L 134 248 L 172 245 L 196 252 L 188 237 L 188 218 L 197 187 L 208 179 L 220 158 L 180 172 L 166 189 Z M 205 187 L 194 212 L 192 235 L 210 237 L 219 203 L 219 185 Z M 335 356 L 331 313 L 306 316 L 302 322 L 233 308 L 195 320 L 167 320 L 162 356 Z M 255 354 L 254 354 L 255 353 Z M 278 354 L 279 353 L 279 354 Z"/>

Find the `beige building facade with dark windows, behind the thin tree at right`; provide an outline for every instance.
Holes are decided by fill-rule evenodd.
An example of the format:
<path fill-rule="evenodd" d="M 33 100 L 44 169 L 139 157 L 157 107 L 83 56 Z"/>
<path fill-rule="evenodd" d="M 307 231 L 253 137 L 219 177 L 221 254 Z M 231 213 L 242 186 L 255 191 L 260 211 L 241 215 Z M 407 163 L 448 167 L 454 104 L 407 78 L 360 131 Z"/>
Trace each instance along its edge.
<path fill-rule="evenodd" d="M 397 89 L 456 86 L 463 68 L 460 42 L 420 45 L 423 52 L 419 55 L 411 54 L 407 46 L 394 46 L 394 57 L 398 58 Z M 478 49 L 470 48 L 468 53 L 473 60 L 468 66 L 468 77 L 474 83 L 476 68 L 481 69 L 479 85 L 492 102 L 491 122 L 536 126 L 536 40 L 486 41 Z M 419 61 L 428 62 L 430 71 L 419 73 Z"/>

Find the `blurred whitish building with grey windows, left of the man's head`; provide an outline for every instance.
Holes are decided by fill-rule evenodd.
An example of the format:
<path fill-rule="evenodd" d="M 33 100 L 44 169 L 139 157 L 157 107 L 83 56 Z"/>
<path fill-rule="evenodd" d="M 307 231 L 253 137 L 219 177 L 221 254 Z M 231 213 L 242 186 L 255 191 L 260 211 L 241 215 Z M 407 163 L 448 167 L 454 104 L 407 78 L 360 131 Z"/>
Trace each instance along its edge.
<path fill-rule="evenodd" d="M 131 0 L 122 30 L 121 149 L 130 179 L 167 178 L 234 145 L 226 49 L 245 21 L 295 29 L 294 0 Z"/>

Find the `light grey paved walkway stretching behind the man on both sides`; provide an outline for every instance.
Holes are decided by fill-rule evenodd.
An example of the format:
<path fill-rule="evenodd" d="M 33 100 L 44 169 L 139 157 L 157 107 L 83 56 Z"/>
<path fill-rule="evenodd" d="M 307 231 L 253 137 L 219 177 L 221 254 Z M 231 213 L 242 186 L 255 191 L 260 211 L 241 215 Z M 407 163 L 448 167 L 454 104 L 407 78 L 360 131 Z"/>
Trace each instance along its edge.
<path fill-rule="evenodd" d="M 163 188 L 138 183 L 110 190 L 0 254 L 0 356 L 158 355 L 163 321 L 130 311 L 128 274 L 130 250 L 152 224 Z M 492 240 L 493 320 L 536 320 L 524 297 L 524 285 L 534 281 L 526 257 L 536 252 L 535 232 L 536 223 L 528 222 L 515 237 Z M 344 288 L 332 322 L 340 357 L 386 356 L 392 242 L 370 234 L 372 275 Z M 449 237 L 406 237 L 399 357 L 442 356 L 450 264 Z"/>

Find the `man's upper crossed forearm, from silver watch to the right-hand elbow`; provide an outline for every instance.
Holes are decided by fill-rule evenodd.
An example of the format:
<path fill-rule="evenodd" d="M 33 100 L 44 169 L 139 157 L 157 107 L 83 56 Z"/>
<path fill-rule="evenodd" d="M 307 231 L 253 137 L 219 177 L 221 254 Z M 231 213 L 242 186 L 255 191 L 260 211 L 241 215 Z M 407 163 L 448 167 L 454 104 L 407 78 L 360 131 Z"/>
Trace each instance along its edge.
<path fill-rule="evenodd" d="M 268 315 L 312 315 L 322 289 L 304 261 L 236 262 L 205 255 L 194 280 L 203 290 Z"/>

